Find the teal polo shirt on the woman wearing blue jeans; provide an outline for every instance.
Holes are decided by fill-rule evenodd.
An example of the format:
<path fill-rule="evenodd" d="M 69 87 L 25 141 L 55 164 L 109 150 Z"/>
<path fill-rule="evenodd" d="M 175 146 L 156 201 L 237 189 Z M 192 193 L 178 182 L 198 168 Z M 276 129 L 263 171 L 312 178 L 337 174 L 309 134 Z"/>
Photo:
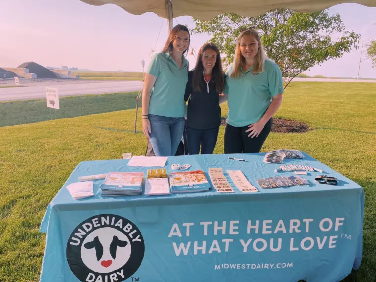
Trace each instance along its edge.
<path fill-rule="evenodd" d="M 157 77 L 150 93 L 149 114 L 180 118 L 187 115 L 184 92 L 188 81 L 189 62 L 182 57 L 179 69 L 169 53 L 155 54 L 147 73 Z"/>

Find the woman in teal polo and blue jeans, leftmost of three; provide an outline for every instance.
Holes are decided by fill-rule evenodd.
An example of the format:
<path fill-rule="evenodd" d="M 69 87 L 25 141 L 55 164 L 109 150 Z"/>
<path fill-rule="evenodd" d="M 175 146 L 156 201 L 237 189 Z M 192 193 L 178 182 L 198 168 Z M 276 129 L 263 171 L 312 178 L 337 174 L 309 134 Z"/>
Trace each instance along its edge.
<path fill-rule="evenodd" d="M 184 25 L 170 32 L 162 52 L 153 56 L 142 92 L 142 128 L 156 156 L 174 156 L 183 136 L 187 106 L 190 35 Z"/>

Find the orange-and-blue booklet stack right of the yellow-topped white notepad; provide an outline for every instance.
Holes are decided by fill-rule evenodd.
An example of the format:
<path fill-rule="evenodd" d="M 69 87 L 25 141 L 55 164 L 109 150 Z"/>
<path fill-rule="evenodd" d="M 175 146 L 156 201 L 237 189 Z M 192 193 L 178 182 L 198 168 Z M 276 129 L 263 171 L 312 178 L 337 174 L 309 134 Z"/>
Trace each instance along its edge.
<path fill-rule="evenodd" d="M 202 170 L 171 172 L 170 185 L 173 193 L 206 192 L 210 189 Z"/>

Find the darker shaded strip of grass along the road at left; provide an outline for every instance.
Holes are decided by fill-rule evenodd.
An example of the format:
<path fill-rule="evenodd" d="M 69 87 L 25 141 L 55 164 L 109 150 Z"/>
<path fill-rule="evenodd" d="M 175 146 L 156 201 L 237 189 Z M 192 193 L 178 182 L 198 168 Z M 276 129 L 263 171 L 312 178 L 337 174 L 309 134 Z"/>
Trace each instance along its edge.
<path fill-rule="evenodd" d="M 61 97 L 60 110 L 47 108 L 46 99 L 3 102 L 0 103 L 0 127 L 132 109 L 136 108 L 137 94 L 131 92 Z"/>

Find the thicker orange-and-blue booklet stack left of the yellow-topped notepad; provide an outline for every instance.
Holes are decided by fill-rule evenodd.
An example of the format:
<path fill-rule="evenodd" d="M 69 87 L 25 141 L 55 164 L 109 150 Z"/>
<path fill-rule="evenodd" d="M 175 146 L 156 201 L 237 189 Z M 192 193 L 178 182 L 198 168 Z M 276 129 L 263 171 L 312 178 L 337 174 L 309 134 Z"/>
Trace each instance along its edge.
<path fill-rule="evenodd" d="M 110 172 L 101 184 L 102 196 L 140 195 L 143 172 Z"/>

